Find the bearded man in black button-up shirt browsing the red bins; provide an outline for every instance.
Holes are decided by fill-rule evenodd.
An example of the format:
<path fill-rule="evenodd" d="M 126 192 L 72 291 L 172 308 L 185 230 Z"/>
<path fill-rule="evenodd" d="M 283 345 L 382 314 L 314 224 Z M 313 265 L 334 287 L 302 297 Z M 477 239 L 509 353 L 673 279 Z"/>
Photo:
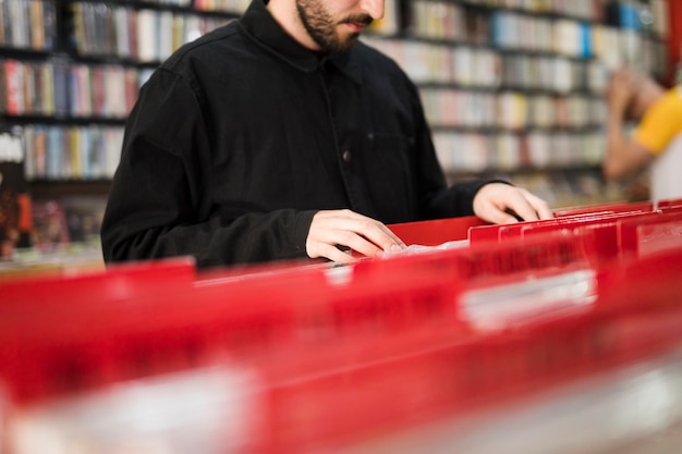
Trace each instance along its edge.
<path fill-rule="evenodd" d="M 506 183 L 447 188 L 416 87 L 357 42 L 382 15 L 382 0 L 254 0 L 176 51 L 129 118 L 105 259 L 346 262 L 404 247 L 386 223 L 550 218 Z"/>

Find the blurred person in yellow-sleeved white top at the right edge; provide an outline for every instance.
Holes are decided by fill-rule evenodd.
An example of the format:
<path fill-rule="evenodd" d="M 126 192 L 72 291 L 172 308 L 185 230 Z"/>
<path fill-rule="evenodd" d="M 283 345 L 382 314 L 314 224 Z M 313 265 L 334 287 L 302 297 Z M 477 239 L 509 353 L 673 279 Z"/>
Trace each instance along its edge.
<path fill-rule="evenodd" d="M 618 180 L 649 170 L 651 200 L 682 197 L 682 87 L 669 90 L 630 70 L 613 73 L 604 175 Z M 632 135 L 624 124 L 638 122 Z"/>

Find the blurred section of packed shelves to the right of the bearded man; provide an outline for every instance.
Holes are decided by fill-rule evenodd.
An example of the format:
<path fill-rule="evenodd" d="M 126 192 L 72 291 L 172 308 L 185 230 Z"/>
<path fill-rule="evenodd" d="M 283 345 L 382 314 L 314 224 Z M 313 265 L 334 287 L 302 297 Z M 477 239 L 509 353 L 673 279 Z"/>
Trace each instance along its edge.
<path fill-rule="evenodd" d="M 580 205 L 628 197 L 599 171 L 604 89 L 621 65 L 663 79 L 666 11 L 665 1 L 416 0 L 403 3 L 401 35 L 367 39 L 419 85 L 451 180 L 502 176 Z M 581 170 L 576 192 L 547 191 L 574 186 Z"/>

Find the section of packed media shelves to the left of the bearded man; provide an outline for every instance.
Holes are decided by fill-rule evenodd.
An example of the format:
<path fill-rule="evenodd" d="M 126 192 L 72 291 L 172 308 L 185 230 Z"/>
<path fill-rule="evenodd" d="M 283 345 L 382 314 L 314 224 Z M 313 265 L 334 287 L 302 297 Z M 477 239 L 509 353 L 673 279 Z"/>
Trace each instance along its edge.
<path fill-rule="evenodd" d="M 196 3 L 2 2 L 0 112 L 24 127 L 32 187 L 88 181 L 84 192 L 108 191 L 139 86 L 174 49 L 236 16 Z"/>

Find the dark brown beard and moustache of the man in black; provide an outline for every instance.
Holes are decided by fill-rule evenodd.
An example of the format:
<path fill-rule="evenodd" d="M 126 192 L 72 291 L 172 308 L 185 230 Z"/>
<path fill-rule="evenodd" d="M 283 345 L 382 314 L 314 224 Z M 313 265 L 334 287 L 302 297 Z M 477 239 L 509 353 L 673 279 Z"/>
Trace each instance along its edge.
<path fill-rule="evenodd" d="M 336 25 L 320 0 L 296 0 L 299 16 L 310 38 L 326 52 L 346 52 L 355 46 L 358 33 L 352 33 L 345 39 L 339 38 Z M 372 17 L 362 14 L 345 17 L 341 23 L 354 22 L 369 25 Z"/>

